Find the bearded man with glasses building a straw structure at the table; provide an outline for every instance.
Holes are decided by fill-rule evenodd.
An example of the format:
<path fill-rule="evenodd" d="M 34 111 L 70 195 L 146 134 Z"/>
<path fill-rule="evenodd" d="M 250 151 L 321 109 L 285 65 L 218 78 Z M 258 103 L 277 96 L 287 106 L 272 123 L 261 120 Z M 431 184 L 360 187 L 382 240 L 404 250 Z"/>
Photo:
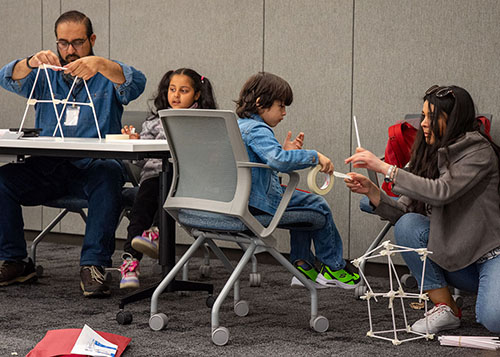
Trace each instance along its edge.
<path fill-rule="evenodd" d="M 84 83 L 92 96 L 100 132 L 120 133 L 123 105 L 144 91 L 146 78 L 140 71 L 118 61 L 95 56 L 96 35 L 90 19 L 78 11 L 62 14 L 55 23 L 57 54 L 40 51 L 15 60 L 0 69 L 0 85 L 29 97 L 37 67 L 48 64 L 64 70 L 43 70 L 33 98 L 66 98 L 74 78 L 70 101 L 88 103 Z M 61 111 L 63 105 L 59 104 Z M 52 103 L 35 105 L 35 126 L 41 135 L 52 136 L 57 116 Z M 65 137 L 97 137 L 92 108 L 68 105 L 62 113 Z M 60 132 L 59 132 L 60 135 Z M 29 157 L 23 164 L 0 167 L 0 286 L 36 278 L 33 262 L 26 261 L 21 205 L 40 205 L 72 195 L 88 200 L 88 219 L 80 258 L 81 288 L 84 296 L 109 296 L 104 267 L 111 266 L 115 229 L 121 211 L 121 189 L 125 171 L 117 160 Z"/>

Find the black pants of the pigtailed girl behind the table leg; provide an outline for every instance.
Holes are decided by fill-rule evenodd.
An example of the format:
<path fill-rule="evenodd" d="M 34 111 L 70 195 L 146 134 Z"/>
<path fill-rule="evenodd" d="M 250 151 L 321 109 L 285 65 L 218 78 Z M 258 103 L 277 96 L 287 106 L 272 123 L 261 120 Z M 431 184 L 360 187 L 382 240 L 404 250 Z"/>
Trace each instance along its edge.
<path fill-rule="evenodd" d="M 158 221 L 158 208 L 160 204 L 160 177 L 145 180 L 139 186 L 134 205 L 130 212 L 130 224 L 127 227 L 127 240 L 123 250 L 134 258 L 141 259 L 142 253 L 132 248 L 132 239 L 142 235 L 146 229 L 151 228 Z"/>

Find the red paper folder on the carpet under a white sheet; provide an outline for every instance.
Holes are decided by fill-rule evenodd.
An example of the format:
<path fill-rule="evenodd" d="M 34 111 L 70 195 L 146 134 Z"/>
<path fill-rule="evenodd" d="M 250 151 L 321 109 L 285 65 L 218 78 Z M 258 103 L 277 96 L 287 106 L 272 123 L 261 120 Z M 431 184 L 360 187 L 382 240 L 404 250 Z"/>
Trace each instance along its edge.
<path fill-rule="evenodd" d="M 78 336 L 82 332 L 80 328 L 49 330 L 45 337 L 38 342 L 26 357 L 77 357 L 82 355 L 71 354 L 71 350 L 75 345 Z M 116 357 L 120 357 L 128 346 L 131 338 L 115 335 L 113 333 L 96 331 L 100 336 L 109 342 L 118 345 Z"/>

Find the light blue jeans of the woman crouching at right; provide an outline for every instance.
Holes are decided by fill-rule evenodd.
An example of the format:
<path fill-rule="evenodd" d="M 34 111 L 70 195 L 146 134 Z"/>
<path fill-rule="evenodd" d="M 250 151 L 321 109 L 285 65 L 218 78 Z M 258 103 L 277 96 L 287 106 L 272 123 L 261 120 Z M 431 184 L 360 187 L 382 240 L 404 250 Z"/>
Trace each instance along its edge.
<path fill-rule="evenodd" d="M 410 248 L 426 248 L 429 241 L 429 217 L 407 213 L 395 225 L 394 236 L 398 245 Z M 403 259 L 420 285 L 423 262 L 417 253 L 403 253 Z M 432 258 L 429 255 L 428 258 Z M 489 331 L 500 332 L 500 257 L 484 263 L 474 263 L 463 269 L 449 272 L 427 259 L 424 290 L 448 285 L 460 290 L 477 293 L 476 320 Z"/>

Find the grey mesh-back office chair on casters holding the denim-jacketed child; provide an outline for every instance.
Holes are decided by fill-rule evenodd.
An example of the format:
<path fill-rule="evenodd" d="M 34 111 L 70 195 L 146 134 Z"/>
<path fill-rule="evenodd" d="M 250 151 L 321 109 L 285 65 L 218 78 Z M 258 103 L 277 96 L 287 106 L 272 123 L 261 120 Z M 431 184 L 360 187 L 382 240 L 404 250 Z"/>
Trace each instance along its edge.
<path fill-rule="evenodd" d="M 270 168 L 249 162 L 236 114 L 223 110 L 179 109 L 161 110 L 159 115 L 167 134 L 174 167 L 173 182 L 164 208 L 195 242 L 153 293 L 149 320 L 151 329 L 161 330 L 168 323 L 167 316 L 158 312 L 160 294 L 168 288 L 196 250 L 207 243 L 231 272 L 217 299 L 213 296 L 207 298 L 207 305 L 212 308 L 213 343 L 225 345 L 229 340 L 228 329 L 220 325 L 219 310 L 233 287 L 234 312 L 238 316 L 248 314 L 248 302 L 240 298 L 239 277 L 253 254 L 264 251 L 309 290 L 309 324 L 318 332 L 326 331 L 328 320 L 318 315 L 318 298 L 313 284 L 274 248 L 273 233 L 278 227 L 316 230 L 325 223 L 324 216 L 316 212 L 285 212 L 299 182 L 298 173 L 287 173 L 290 181 L 276 214 L 255 216 L 248 208 L 251 169 Z M 235 242 L 243 250 L 244 254 L 236 267 L 233 268 L 216 245 L 215 241 L 218 240 Z"/>

